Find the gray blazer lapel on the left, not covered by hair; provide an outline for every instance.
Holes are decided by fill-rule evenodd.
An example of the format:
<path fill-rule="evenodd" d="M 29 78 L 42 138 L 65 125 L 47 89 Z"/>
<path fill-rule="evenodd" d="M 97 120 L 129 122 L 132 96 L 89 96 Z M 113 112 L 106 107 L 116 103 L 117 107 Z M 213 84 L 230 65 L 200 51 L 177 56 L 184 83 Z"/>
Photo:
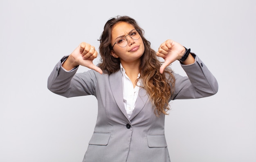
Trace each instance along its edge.
<path fill-rule="evenodd" d="M 129 120 L 126 110 L 124 108 L 123 81 L 122 81 L 121 70 L 109 75 L 109 81 L 110 81 L 110 88 L 111 88 L 112 94 L 115 98 L 115 101 L 116 101 L 119 109 Z"/>

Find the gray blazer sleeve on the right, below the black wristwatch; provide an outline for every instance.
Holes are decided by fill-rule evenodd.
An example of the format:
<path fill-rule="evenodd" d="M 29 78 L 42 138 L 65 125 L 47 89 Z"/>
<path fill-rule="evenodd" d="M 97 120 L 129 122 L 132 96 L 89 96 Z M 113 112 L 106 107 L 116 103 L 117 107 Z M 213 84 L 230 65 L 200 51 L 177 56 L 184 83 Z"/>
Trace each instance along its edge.
<path fill-rule="evenodd" d="M 187 76 L 174 73 L 175 91 L 171 100 L 204 98 L 218 91 L 218 82 L 205 64 L 195 56 L 195 63 L 182 65 Z"/>

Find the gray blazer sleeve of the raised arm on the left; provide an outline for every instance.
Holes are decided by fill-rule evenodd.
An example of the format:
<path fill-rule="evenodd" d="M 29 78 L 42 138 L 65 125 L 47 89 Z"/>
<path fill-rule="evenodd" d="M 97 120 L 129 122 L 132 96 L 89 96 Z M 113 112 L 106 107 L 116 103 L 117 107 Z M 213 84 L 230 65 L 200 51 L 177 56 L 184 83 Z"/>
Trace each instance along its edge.
<path fill-rule="evenodd" d="M 62 60 L 64 60 L 63 57 Z M 47 88 L 58 95 L 70 98 L 81 95 L 95 95 L 96 77 L 92 70 L 76 73 L 77 69 L 65 71 L 58 62 L 47 80 Z"/>

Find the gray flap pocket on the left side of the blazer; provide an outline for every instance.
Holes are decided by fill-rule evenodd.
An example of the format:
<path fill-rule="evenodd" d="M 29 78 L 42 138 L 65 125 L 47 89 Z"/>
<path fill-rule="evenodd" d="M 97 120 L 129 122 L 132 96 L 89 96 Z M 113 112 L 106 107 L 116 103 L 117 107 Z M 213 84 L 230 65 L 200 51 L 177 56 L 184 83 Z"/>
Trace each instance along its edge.
<path fill-rule="evenodd" d="M 110 133 L 94 132 L 89 144 L 94 145 L 108 145 Z"/>

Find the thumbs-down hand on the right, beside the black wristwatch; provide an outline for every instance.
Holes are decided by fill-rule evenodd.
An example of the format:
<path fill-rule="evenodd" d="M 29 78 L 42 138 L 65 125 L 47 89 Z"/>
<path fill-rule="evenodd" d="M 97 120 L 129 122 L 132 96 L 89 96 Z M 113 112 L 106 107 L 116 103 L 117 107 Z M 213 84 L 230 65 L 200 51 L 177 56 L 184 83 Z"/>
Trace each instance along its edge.
<path fill-rule="evenodd" d="M 163 42 L 156 53 L 158 57 L 164 59 L 164 63 L 160 67 L 160 73 L 162 74 L 164 69 L 175 60 L 182 58 L 185 52 L 186 49 L 180 43 L 174 42 L 173 40 Z"/>

